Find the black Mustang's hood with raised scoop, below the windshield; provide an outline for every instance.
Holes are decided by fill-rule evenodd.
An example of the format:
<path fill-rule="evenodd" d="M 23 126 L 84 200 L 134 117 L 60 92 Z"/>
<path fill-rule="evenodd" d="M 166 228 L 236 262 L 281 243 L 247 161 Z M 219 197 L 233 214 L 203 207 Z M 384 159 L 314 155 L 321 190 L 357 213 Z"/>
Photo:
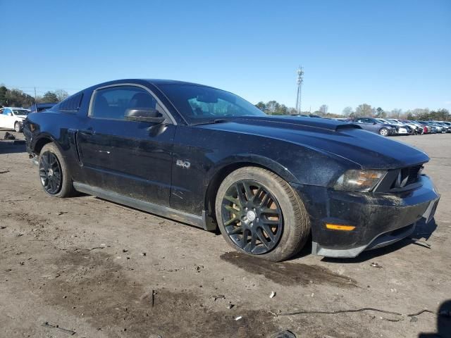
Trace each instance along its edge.
<path fill-rule="evenodd" d="M 233 118 L 226 123 L 197 127 L 290 142 L 321 151 L 339 161 L 351 161 L 364 169 L 404 168 L 429 161 L 419 149 L 337 120 L 263 116 Z"/>

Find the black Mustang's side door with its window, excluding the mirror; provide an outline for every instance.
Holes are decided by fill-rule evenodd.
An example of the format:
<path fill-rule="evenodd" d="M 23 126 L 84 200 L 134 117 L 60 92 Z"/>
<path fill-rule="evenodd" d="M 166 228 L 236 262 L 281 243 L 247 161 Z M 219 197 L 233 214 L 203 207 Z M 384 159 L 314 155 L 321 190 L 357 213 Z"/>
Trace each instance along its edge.
<path fill-rule="evenodd" d="M 125 120 L 132 108 L 153 108 L 164 123 Z M 77 143 L 82 180 L 94 187 L 169 206 L 175 121 L 149 89 L 132 84 L 94 90 Z"/>

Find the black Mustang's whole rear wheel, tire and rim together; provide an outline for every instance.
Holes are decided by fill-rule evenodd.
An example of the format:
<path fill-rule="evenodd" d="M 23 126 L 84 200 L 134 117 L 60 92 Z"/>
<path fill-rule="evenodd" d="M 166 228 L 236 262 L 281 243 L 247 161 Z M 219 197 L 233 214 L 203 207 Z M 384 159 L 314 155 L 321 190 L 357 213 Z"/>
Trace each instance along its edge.
<path fill-rule="evenodd" d="M 62 198 L 75 194 L 66 159 L 52 142 L 46 144 L 39 153 L 39 180 L 44 192 L 50 196 Z"/>

